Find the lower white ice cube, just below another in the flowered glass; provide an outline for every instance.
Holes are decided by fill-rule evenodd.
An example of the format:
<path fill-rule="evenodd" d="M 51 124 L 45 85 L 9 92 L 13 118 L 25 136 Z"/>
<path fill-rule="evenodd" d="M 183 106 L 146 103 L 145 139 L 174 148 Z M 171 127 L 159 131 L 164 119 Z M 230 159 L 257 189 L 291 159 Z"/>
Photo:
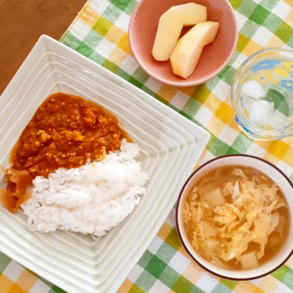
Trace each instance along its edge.
<path fill-rule="evenodd" d="M 252 103 L 249 120 L 258 125 L 265 125 L 268 123 L 269 117 L 273 115 L 274 103 L 266 100 L 259 100 Z"/>

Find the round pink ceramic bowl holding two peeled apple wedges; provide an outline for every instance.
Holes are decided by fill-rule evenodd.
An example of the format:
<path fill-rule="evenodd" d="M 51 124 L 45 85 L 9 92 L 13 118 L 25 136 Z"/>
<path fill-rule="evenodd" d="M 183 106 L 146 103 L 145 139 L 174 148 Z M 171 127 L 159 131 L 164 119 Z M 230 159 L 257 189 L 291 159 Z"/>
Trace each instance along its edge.
<path fill-rule="evenodd" d="M 187 79 L 172 72 L 170 61 L 156 61 L 151 55 L 160 16 L 174 5 L 195 2 L 207 6 L 208 20 L 219 22 L 215 41 L 206 45 L 194 73 Z M 190 27 L 183 28 L 181 35 Z M 128 31 L 132 54 L 151 77 L 177 87 L 202 84 L 219 74 L 231 59 L 238 38 L 237 23 L 228 0 L 141 0 L 135 7 Z"/>

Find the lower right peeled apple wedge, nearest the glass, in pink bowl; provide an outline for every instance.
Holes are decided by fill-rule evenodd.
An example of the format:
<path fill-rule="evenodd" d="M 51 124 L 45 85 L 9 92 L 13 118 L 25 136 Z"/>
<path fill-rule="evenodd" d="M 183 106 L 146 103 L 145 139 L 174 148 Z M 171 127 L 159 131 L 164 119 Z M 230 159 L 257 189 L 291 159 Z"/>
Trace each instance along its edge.
<path fill-rule="evenodd" d="M 214 41 L 219 26 L 218 22 L 202 22 L 179 40 L 170 56 L 174 74 L 188 78 L 194 72 L 202 49 Z"/>

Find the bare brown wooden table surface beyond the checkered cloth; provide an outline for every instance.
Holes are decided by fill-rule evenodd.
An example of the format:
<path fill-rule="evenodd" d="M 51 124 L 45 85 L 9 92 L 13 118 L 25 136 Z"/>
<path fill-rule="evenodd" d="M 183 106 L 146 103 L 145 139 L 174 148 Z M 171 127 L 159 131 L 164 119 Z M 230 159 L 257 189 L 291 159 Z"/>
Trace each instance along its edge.
<path fill-rule="evenodd" d="M 0 94 L 42 34 L 60 39 L 86 0 L 0 0 Z"/>

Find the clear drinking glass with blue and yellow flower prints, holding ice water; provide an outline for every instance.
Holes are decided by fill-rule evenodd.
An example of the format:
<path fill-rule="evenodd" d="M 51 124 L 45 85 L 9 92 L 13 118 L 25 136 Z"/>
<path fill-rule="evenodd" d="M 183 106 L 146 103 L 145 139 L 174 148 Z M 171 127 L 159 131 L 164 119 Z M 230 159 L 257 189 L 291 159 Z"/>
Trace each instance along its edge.
<path fill-rule="evenodd" d="M 293 50 L 269 48 L 246 59 L 234 76 L 231 101 L 251 139 L 293 135 Z"/>

